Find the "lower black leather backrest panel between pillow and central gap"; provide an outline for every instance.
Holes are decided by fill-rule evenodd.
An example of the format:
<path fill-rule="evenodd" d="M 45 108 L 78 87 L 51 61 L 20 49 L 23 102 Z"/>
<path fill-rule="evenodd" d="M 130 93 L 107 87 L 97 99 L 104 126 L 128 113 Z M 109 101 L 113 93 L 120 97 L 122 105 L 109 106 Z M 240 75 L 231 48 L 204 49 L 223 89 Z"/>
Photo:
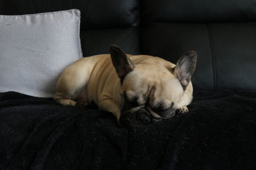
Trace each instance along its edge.
<path fill-rule="evenodd" d="M 81 31 L 84 56 L 109 53 L 109 45 L 120 46 L 125 52 L 140 53 L 139 29 L 136 27 L 116 29 L 88 29 Z"/>

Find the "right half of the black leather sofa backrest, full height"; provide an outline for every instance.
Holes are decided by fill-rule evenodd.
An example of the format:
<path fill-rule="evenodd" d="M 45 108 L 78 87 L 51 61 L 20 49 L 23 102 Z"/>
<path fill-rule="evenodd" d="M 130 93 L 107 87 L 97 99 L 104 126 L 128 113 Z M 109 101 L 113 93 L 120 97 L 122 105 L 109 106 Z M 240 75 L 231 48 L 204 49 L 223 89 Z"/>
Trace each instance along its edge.
<path fill-rule="evenodd" d="M 198 53 L 196 89 L 256 91 L 255 0 L 141 0 L 141 53 Z"/>

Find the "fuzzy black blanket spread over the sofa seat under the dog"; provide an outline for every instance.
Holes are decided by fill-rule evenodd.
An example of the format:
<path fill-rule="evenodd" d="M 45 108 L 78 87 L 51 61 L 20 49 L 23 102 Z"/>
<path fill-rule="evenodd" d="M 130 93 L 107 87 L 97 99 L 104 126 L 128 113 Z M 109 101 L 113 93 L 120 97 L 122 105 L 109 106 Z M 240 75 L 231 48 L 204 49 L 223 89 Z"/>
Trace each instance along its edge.
<path fill-rule="evenodd" d="M 256 94 L 194 96 L 186 115 L 125 128 L 106 111 L 0 94 L 0 169 L 256 169 Z"/>

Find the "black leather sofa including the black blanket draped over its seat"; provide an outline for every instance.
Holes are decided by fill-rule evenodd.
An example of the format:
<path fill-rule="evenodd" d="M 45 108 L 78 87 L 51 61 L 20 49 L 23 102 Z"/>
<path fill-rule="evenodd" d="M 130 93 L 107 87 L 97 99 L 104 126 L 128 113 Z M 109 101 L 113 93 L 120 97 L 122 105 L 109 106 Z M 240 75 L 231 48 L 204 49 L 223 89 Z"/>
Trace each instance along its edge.
<path fill-rule="evenodd" d="M 106 111 L 7 92 L 0 169 L 256 169 L 255 0 L 0 1 L 3 15 L 71 8 L 84 57 L 115 44 L 175 63 L 195 50 L 190 111 L 125 128 Z"/>

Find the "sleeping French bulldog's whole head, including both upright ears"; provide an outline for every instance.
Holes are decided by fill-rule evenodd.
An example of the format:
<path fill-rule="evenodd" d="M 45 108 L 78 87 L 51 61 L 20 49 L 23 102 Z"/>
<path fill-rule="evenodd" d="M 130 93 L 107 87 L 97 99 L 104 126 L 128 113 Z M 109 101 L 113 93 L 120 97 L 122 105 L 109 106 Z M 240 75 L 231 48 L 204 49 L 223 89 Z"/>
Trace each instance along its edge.
<path fill-rule="evenodd" d="M 180 57 L 176 66 L 158 57 L 134 63 L 115 45 L 110 46 L 110 55 L 122 84 L 120 124 L 132 124 L 141 117 L 149 123 L 175 115 L 177 103 L 195 71 L 196 52 Z"/>

